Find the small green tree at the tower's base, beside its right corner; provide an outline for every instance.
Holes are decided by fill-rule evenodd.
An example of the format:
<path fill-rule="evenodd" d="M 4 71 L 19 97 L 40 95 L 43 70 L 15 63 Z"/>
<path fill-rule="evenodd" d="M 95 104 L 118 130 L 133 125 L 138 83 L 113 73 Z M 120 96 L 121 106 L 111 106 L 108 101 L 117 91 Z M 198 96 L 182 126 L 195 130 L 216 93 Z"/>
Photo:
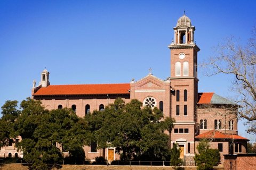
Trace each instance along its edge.
<path fill-rule="evenodd" d="M 218 149 L 211 149 L 209 141 L 202 140 L 197 145 L 198 154 L 195 154 L 197 169 L 212 169 L 220 162 L 220 152 Z"/>

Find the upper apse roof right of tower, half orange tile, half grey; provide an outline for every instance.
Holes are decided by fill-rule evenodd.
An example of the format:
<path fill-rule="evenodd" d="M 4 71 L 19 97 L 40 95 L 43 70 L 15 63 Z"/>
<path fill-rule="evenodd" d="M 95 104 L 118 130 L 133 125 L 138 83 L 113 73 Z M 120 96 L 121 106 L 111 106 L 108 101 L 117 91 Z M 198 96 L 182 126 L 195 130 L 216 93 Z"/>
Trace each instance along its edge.
<path fill-rule="evenodd" d="M 225 104 L 235 105 L 233 101 L 223 98 L 214 92 L 198 92 L 197 104 Z"/>

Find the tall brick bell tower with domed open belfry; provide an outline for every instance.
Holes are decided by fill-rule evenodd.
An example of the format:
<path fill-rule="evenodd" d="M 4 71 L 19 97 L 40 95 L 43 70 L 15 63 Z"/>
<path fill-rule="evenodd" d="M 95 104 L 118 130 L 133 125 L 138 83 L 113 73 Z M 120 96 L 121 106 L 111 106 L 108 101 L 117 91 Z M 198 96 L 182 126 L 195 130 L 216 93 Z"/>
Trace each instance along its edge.
<path fill-rule="evenodd" d="M 197 52 L 194 42 L 195 27 L 188 16 L 181 16 L 174 30 L 171 50 L 171 115 L 175 119 L 171 142 L 178 142 L 183 155 L 194 154 L 194 135 L 197 105 Z M 191 145 L 190 145 L 191 144 Z M 189 150 L 188 150 L 189 149 Z M 183 157 L 185 158 L 185 157 Z"/>

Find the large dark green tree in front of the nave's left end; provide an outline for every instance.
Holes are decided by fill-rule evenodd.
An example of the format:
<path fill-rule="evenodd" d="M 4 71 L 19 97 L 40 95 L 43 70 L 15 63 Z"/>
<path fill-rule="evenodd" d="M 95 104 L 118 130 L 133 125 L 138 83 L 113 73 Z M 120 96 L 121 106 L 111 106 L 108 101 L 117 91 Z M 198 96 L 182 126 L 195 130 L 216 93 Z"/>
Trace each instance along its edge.
<path fill-rule="evenodd" d="M 47 169 L 47 164 L 58 163 L 62 154 L 57 143 L 69 150 L 71 157 L 86 144 L 87 123 L 71 109 L 48 111 L 30 98 L 21 102 L 21 108 L 15 121 L 15 130 L 22 137 L 17 147 L 26 162 L 32 163 L 31 168 Z"/>

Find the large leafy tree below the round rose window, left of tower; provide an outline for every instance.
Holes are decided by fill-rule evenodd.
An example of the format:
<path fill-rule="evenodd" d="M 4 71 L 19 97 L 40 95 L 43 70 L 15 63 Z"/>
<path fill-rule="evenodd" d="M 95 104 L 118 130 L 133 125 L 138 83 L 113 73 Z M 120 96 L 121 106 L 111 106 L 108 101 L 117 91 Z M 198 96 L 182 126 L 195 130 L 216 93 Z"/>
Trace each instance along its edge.
<path fill-rule="evenodd" d="M 118 98 L 105 111 L 86 115 L 91 141 L 97 142 L 98 148 L 117 147 L 122 160 L 166 160 L 170 150 L 165 131 L 171 131 L 174 120 L 165 118 L 158 108 L 141 107 L 137 99 L 124 104 Z"/>

